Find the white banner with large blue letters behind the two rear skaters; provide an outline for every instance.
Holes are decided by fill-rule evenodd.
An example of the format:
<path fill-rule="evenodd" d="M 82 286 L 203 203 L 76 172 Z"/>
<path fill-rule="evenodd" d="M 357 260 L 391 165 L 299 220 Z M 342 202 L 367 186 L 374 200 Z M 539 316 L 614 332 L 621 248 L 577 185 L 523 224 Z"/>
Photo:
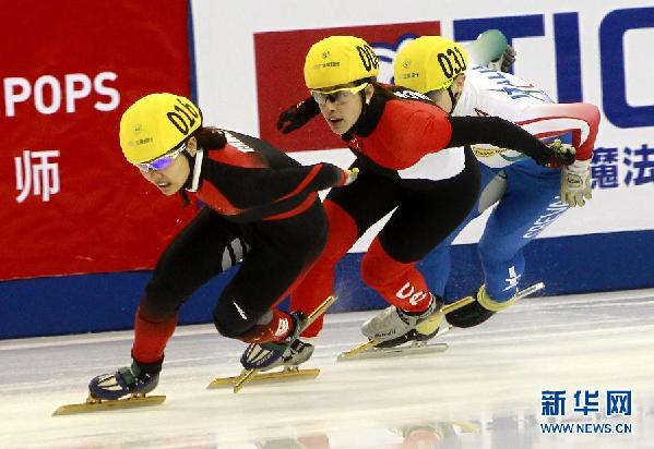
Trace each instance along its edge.
<path fill-rule="evenodd" d="M 380 0 L 194 0 L 192 13 L 197 87 L 205 122 L 253 135 L 262 129 L 260 100 L 266 94 L 258 92 L 258 77 L 298 78 L 302 71 L 301 61 L 296 66 L 258 66 L 262 57 L 283 59 L 297 49 L 287 39 L 278 48 L 257 50 L 272 54 L 257 54 L 257 35 L 390 24 L 395 31 L 399 24 L 409 29 L 412 24 L 438 22 L 440 34 L 465 41 L 480 31 L 499 28 L 518 52 L 514 72 L 519 76 L 555 99 L 592 102 L 603 112 L 593 161 L 593 201 L 564 214 L 540 236 L 654 229 L 651 1 L 414 0 L 400 5 Z M 377 43 L 376 50 L 392 56 L 400 37 Z M 295 100 L 306 96 L 306 89 L 298 86 Z M 316 148 L 324 147 L 316 142 Z M 328 160 L 346 166 L 352 160 L 347 150 L 295 155 L 302 162 Z M 483 219 L 476 220 L 457 242 L 476 241 L 481 227 Z M 367 240 L 355 250 L 366 245 Z"/>

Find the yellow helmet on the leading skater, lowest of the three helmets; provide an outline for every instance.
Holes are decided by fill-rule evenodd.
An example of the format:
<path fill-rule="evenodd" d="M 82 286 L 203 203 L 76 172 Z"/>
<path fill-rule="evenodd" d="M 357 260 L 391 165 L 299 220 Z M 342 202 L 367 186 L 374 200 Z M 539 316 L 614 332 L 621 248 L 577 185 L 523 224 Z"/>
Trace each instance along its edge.
<path fill-rule="evenodd" d="M 120 119 L 120 147 L 131 163 L 156 159 L 187 139 L 202 124 L 202 112 L 188 98 L 151 94 Z"/>

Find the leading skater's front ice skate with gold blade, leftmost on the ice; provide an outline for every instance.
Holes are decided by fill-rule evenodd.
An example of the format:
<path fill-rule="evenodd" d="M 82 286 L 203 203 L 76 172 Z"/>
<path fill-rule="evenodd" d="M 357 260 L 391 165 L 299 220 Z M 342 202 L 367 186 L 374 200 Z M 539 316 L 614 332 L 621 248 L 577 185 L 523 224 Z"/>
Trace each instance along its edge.
<path fill-rule="evenodd" d="M 84 403 L 67 404 L 58 408 L 53 415 L 85 413 L 103 410 L 157 405 L 165 396 L 146 396 L 159 381 L 158 372 L 143 373 L 133 363 L 131 367 L 119 368 L 112 374 L 103 374 L 88 383 L 88 398 Z"/>

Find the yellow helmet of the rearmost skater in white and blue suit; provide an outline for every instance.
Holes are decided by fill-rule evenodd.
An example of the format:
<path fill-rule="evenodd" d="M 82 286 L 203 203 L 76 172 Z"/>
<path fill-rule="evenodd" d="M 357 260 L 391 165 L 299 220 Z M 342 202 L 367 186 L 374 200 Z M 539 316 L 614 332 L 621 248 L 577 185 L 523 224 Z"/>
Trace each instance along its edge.
<path fill-rule="evenodd" d="M 426 94 L 450 87 L 468 68 L 467 51 L 442 36 L 423 36 L 406 44 L 393 63 L 395 85 Z"/>

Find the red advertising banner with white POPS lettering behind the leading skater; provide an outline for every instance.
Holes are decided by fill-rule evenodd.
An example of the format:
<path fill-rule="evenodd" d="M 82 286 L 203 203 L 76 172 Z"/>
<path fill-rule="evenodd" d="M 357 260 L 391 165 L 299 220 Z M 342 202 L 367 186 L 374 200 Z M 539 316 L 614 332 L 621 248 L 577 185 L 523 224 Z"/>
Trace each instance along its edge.
<path fill-rule="evenodd" d="M 151 268 L 192 214 L 145 182 L 118 141 L 138 98 L 189 95 L 187 8 L 2 5 L 0 280 Z"/>

